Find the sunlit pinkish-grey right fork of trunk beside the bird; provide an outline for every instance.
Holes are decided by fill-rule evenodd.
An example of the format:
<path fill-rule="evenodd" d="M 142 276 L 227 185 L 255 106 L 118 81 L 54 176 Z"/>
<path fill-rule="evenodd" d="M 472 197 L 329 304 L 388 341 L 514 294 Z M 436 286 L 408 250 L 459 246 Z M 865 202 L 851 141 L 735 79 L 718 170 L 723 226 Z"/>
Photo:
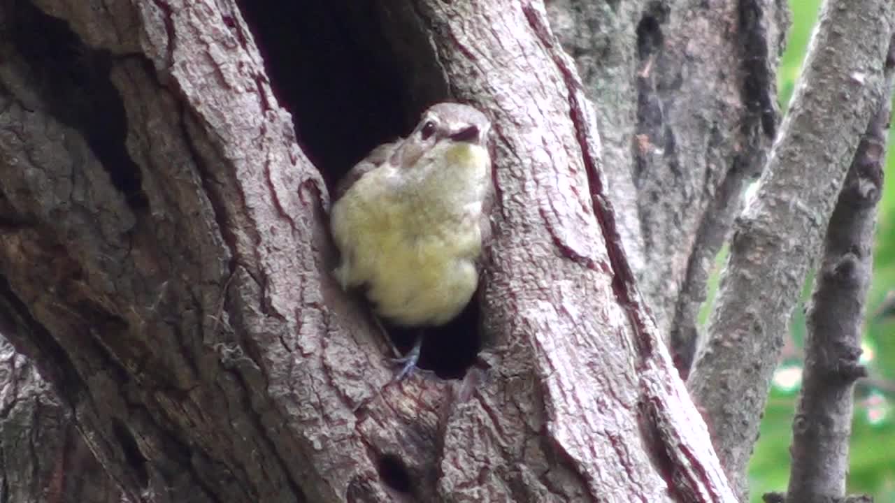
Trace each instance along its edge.
<path fill-rule="evenodd" d="M 528 478 L 558 456 L 565 470 L 541 475 L 541 495 L 561 490 L 559 499 L 624 500 L 640 486 L 638 498 L 646 501 L 732 498 L 714 467 L 690 465 L 690 448 L 702 451 L 696 458 L 709 454 L 697 440 L 702 425 L 635 293 L 605 202 L 592 110 L 546 14 L 536 4 L 520 9 L 511 2 L 468 10 L 431 2 L 418 14 L 439 62 L 456 77 L 454 95 L 487 109 L 497 132 L 499 214 L 483 308 L 491 347 L 482 356 L 497 379 L 447 423 L 445 457 L 473 461 L 473 470 L 460 483 L 446 477 L 452 483 L 441 486 L 442 494 L 474 499 L 482 490 L 479 473 L 496 460 L 498 472 L 521 466 L 516 476 Z M 516 27 L 515 44 L 507 47 L 491 26 Z M 499 66 L 484 55 L 499 55 Z M 613 336 L 594 337 L 607 333 Z M 533 403 L 544 404 L 543 413 L 527 405 Z M 489 426 L 468 430 L 468 422 Z M 538 448 L 536 431 L 549 439 Z M 622 447 L 638 434 L 642 450 Z M 471 458 L 469 445 L 482 446 L 481 454 Z M 601 482 L 611 477 L 608 466 L 624 468 L 616 488 Z M 493 482 L 486 485 L 497 489 Z M 499 499 L 538 494 L 526 492 L 507 490 Z"/>

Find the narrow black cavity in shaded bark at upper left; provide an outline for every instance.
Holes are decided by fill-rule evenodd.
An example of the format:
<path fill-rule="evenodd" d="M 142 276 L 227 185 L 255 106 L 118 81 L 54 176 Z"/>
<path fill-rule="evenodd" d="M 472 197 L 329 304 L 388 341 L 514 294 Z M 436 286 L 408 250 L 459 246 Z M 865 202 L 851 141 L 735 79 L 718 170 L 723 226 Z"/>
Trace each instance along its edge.
<path fill-rule="evenodd" d="M 127 118 L 109 80 L 111 55 L 85 46 L 65 21 L 30 2 L 14 2 L 12 17 L 6 25 L 30 66 L 30 90 L 56 120 L 81 132 L 132 209 L 148 208 L 140 169 L 125 148 Z"/>

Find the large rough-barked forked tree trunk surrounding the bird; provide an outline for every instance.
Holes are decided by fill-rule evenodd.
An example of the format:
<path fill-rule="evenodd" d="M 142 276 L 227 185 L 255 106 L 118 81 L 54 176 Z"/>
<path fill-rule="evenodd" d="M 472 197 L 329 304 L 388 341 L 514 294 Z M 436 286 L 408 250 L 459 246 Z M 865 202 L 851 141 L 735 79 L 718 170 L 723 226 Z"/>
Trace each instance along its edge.
<path fill-rule="evenodd" d="M 763 164 L 781 7 L 260 4 L 0 2 L 0 330 L 126 497 L 736 500 L 662 339 Z M 445 99 L 494 123 L 495 239 L 392 383 L 324 180 Z"/>

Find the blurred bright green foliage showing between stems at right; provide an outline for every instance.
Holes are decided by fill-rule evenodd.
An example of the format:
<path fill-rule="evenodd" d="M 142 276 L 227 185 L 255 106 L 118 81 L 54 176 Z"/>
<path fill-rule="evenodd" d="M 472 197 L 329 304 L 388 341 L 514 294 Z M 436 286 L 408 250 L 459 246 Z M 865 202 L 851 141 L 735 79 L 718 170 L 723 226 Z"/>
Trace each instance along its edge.
<path fill-rule="evenodd" d="M 793 23 L 788 47 L 780 64 L 780 103 L 785 107 L 798 78 L 821 0 L 789 0 Z M 858 386 L 851 439 L 848 492 L 867 493 L 877 503 L 895 503 L 895 313 L 880 314 L 886 294 L 895 290 L 895 143 L 890 149 L 886 183 L 880 205 L 874 250 L 874 281 L 867 303 L 865 362 L 872 380 Z M 810 177 L 808 177 L 810 178 Z M 806 178 L 806 179 L 808 179 Z M 752 501 L 764 492 L 786 490 L 789 472 L 788 448 L 792 437 L 792 416 L 798 394 L 797 376 L 801 367 L 801 342 L 805 334 L 803 302 L 794 311 L 792 345 L 784 350 L 778 376 L 761 427 L 761 438 L 749 466 Z M 792 379 L 796 376 L 795 379 Z M 787 385 L 785 377 L 790 378 Z"/>

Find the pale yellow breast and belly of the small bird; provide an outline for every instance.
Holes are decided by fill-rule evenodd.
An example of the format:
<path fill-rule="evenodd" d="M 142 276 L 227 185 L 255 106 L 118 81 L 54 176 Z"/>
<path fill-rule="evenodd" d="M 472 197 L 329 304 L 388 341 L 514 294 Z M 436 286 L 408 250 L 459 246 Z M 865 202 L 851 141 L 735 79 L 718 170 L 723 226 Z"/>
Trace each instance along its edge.
<path fill-rule="evenodd" d="M 379 315 L 399 325 L 446 323 L 478 285 L 482 197 L 477 194 L 488 176 L 487 151 L 455 144 L 434 159 L 444 166 L 429 166 L 430 173 L 376 168 L 332 209 L 333 236 L 342 254 L 339 281 L 344 287 L 366 285 Z"/>

